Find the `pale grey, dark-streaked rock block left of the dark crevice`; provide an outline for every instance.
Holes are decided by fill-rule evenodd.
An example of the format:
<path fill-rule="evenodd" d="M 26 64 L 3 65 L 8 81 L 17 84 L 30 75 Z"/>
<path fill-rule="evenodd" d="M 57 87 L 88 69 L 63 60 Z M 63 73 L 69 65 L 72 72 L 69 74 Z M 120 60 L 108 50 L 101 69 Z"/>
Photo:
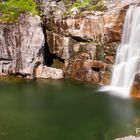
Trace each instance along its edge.
<path fill-rule="evenodd" d="M 0 24 L 0 75 L 32 78 L 43 63 L 44 34 L 39 16 L 22 15 L 18 24 Z"/>

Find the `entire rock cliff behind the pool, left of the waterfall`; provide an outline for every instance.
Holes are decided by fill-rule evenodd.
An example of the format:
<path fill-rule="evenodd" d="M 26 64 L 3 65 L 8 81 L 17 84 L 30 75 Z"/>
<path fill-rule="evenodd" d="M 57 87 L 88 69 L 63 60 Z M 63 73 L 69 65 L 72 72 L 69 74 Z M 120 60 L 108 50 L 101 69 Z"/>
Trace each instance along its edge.
<path fill-rule="evenodd" d="M 108 84 L 128 5 L 65 15 L 63 1 L 37 2 L 41 17 L 0 23 L 0 74 Z"/>

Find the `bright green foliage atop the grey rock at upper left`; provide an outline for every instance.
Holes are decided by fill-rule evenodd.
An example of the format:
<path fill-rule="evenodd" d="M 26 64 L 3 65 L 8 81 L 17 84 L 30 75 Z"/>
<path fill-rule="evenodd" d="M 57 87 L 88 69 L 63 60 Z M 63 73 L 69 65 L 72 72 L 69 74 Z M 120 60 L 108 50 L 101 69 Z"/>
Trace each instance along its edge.
<path fill-rule="evenodd" d="M 16 21 L 21 13 L 37 14 L 34 0 L 6 0 L 0 3 L 0 20 Z"/>

